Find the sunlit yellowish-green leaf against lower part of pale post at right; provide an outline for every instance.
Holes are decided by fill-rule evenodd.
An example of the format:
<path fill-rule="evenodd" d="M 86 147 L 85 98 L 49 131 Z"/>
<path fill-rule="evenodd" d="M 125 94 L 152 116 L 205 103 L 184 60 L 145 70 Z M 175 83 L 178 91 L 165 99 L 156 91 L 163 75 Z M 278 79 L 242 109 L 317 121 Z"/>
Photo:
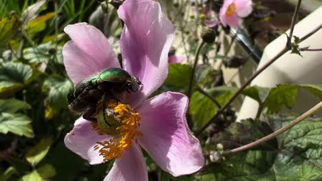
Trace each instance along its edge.
<path fill-rule="evenodd" d="M 264 106 L 268 108 L 268 112 L 277 112 L 286 106 L 292 108 L 297 99 L 297 85 L 280 84 L 276 88 L 272 88 L 268 97 L 264 101 Z"/>

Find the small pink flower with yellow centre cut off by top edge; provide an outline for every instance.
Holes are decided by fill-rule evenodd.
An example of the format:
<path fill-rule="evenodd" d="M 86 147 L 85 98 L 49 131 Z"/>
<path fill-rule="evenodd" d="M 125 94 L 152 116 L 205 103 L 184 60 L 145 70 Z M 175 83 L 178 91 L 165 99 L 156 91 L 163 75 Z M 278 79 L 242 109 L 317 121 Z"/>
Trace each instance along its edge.
<path fill-rule="evenodd" d="M 226 27 L 237 28 L 241 22 L 240 18 L 248 16 L 253 11 L 251 0 L 224 0 L 219 12 L 220 21 Z"/>

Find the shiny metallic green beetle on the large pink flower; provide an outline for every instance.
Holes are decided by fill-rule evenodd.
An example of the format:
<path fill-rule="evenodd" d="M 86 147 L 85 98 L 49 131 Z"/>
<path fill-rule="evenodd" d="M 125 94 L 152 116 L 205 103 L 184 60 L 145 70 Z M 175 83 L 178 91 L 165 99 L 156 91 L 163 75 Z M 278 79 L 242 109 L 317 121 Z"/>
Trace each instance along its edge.
<path fill-rule="evenodd" d="M 83 117 L 92 120 L 98 101 L 102 100 L 103 110 L 107 99 L 118 99 L 125 90 L 136 92 L 141 82 L 120 68 L 109 68 L 78 82 L 74 90 L 67 94 L 69 109 L 83 113 Z"/>

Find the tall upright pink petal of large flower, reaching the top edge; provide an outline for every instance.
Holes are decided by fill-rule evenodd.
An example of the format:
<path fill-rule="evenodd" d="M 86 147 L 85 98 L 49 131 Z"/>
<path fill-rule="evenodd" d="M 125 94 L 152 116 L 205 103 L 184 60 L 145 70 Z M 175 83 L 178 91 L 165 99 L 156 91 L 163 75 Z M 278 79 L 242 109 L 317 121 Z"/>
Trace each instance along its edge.
<path fill-rule="evenodd" d="M 174 27 L 160 4 L 152 0 L 125 1 L 118 16 L 125 22 L 120 39 L 124 69 L 143 84 L 138 92 L 131 93 L 129 104 L 135 107 L 167 78 Z"/>

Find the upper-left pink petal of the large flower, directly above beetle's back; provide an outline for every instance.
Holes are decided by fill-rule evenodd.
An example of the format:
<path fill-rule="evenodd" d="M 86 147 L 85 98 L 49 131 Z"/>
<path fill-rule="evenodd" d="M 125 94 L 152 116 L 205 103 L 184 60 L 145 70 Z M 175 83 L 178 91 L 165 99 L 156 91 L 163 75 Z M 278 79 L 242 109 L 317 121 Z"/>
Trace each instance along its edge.
<path fill-rule="evenodd" d="M 64 31 L 72 38 L 63 47 L 64 64 L 74 84 L 109 67 L 120 67 L 107 38 L 86 23 L 67 25 Z"/>

